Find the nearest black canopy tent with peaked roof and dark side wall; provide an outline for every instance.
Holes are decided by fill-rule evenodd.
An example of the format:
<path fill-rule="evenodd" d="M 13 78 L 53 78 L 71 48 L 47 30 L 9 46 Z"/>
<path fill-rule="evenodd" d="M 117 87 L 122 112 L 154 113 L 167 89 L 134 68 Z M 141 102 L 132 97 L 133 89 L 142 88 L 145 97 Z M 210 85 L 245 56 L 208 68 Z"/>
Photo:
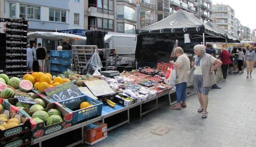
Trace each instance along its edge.
<path fill-rule="evenodd" d="M 135 58 L 154 63 L 170 60 L 176 40 L 187 53 L 193 53 L 193 46 L 201 42 L 226 41 L 225 33 L 203 24 L 193 14 L 182 9 L 155 24 L 137 29 L 136 34 Z M 184 34 L 189 34 L 190 44 L 184 43 Z"/>

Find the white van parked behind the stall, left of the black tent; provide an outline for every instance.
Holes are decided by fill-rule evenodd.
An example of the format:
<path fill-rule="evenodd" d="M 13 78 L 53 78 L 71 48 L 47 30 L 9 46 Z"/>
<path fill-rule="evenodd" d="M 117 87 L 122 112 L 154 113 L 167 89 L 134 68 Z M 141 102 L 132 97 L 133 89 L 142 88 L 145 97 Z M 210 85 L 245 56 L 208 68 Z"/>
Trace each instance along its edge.
<path fill-rule="evenodd" d="M 127 64 L 127 61 L 134 60 L 136 49 L 135 34 L 108 32 L 104 40 L 106 49 L 117 49 L 117 55 L 122 57 L 122 60 L 117 64 Z"/>

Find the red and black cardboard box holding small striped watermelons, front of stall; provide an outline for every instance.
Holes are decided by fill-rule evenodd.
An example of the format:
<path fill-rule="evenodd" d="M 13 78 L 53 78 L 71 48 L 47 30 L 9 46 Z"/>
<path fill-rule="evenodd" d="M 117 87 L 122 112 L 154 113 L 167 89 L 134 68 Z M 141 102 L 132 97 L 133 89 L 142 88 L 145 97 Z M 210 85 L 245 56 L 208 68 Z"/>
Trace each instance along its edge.
<path fill-rule="evenodd" d="M 30 118 L 31 128 L 32 128 L 32 139 L 39 138 L 41 136 L 45 136 L 51 134 L 53 132 L 57 132 L 59 130 L 65 129 L 67 127 L 71 127 L 73 113 L 69 111 L 67 108 L 62 107 L 59 103 L 49 103 L 46 109 L 43 111 L 48 112 L 50 109 L 58 109 L 61 112 L 61 118 L 63 122 L 55 123 L 53 125 L 46 126 L 45 123 L 36 123 L 31 117 L 33 112 L 29 112 L 28 108 L 22 109 L 24 111 L 19 111 L 20 114 L 27 116 Z"/>

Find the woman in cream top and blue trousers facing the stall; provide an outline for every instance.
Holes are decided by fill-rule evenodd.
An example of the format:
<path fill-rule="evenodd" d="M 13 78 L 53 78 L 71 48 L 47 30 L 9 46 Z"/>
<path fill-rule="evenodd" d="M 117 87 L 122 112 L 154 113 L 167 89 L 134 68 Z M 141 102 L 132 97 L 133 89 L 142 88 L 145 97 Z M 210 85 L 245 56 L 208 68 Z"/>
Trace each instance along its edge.
<path fill-rule="evenodd" d="M 190 61 L 181 47 L 176 47 L 173 52 L 176 55 L 177 60 L 176 62 L 170 61 L 170 64 L 173 64 L 176 67 L 177 103 L 172 109 L 180 110 L 181 107 L 187 107 L 187 80 L 190 72 Z"/>

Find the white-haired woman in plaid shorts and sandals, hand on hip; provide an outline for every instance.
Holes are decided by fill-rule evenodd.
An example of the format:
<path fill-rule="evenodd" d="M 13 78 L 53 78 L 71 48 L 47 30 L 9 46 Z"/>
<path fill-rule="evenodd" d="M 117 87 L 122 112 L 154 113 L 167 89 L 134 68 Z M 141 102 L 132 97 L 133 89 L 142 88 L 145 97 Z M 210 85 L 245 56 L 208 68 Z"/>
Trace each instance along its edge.
<path fill-rule="evenodd" d="M 207 118 L 208 93 L 211 86 L 216 84 L 214 70 L 219 68 L 222 62 L 211 54 L 206 54 L 204 45 L 195 45 L 194 51 L 195 62 L 191 63 L 193 67 L 189 73 L 188 83 L 193 83 L 194 91 L 197 93 L 200 103 L 197 112 L 202 112 L 202 118 Z"/>

